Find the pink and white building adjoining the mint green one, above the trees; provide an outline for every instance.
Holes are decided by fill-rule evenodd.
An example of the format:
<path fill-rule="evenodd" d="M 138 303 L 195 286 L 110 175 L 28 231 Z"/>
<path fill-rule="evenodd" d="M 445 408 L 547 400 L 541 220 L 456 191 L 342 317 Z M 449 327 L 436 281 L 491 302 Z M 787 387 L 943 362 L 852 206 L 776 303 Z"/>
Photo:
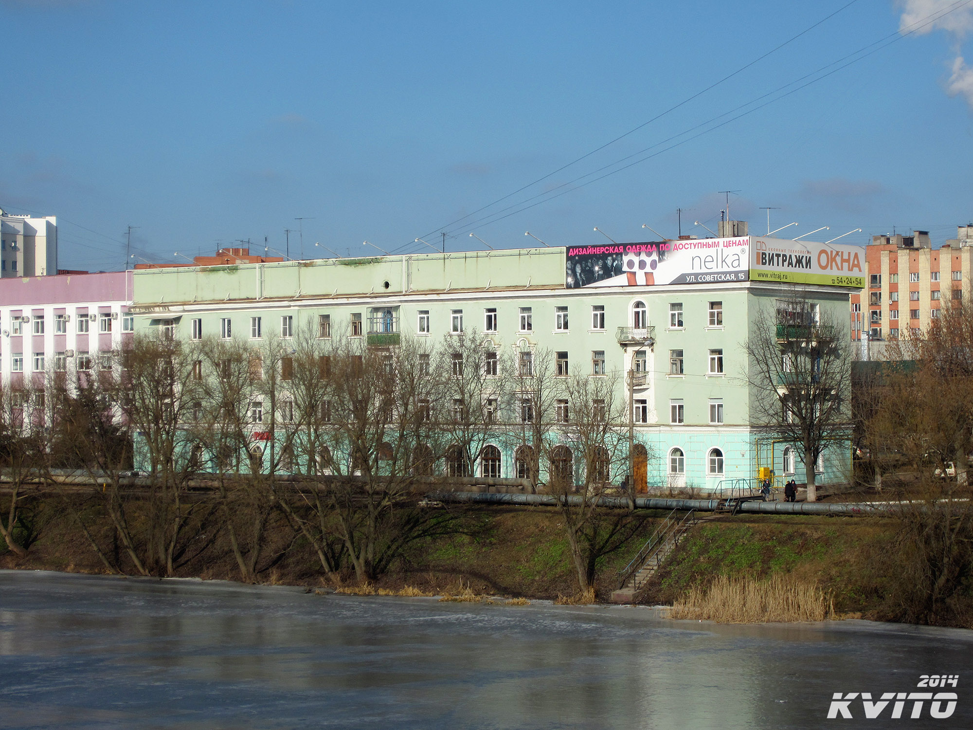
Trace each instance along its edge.
<path fill-rule="evenodd" d="M 131 337 L 131 272 L 0 279 L 0 381 L 111 367 Z"/>

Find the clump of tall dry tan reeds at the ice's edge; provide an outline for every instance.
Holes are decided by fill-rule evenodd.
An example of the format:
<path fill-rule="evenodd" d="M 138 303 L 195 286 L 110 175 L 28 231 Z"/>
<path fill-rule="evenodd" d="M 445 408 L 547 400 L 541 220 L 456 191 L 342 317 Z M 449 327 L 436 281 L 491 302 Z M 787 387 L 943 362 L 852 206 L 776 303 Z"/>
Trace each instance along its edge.
<path fill-rule="evenodd" d="M 709 588 L 690 589 L 668 615 L 728 624 L 827 621 L 835 618 L 835 606 L 831 595 L 813 583 L 779 575 L 767 580 L 721 575 Z"/>

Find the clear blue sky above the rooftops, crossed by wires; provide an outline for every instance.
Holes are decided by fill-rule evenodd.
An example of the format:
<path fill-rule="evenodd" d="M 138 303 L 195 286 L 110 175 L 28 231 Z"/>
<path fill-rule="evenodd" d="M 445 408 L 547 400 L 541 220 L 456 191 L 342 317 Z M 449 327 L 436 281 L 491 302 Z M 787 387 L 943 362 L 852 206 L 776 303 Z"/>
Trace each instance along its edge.
<path fill-rule="evenodd" d="M 604 241 L 595 226 L 645 240 L 643 223 L 676 234 L 677 207 L 683 233 L 705 236 L 694 221 L 715 230 L 723 190 L 739 191 L 732 217 L 755 233 L 773 206 L 773 228 L 800 222 L 792 236 L 919 228 L 938 242 L 973 218 L 973 3 L 962 1 L 857 0 L 470 215 L 848 0 L 0 0 L 0 207 L 57 215 L 60 266 L 90 270 L 124 267 L 128 225 L 151 261 L 236 239 L 282 250 L 285 229 L 297 257 L 302 225 L 308 258 L 330 255 L 314 241 L 342 255 L 375 253 L 365 239 L 428 251 L 414 238 L 438 246 L 441 230 L 450 250 L 482 247 L 470 232 L 495 247 L 534 242 L 528 230 Z M 896 37 L 903 14 L 954 6 L 805 89 L 653 147 Z M 631 161 L 662 151 L 571 182 L 646 149 Z"/>

